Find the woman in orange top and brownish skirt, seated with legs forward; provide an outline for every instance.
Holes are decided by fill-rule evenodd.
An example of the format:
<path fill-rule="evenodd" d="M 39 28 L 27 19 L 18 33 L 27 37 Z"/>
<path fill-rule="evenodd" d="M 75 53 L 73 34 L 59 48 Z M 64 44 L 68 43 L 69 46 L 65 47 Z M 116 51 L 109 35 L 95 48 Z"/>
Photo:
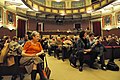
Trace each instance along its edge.
<path fill-rule="evenodd" d="M 36 73 L 40 75 L 40 80 L 48 80 L 42 70 L 43 60 L 39 55 L 44 54 L 43 48 L 40 44 L 40 34 L 36 31 L 31 33 L 32 39 L 27 41 L 23 47 L 22 58 L 20 64 L 25 66 L 28 74 L 31 74 L 31 80 L 36 80 Z"/>

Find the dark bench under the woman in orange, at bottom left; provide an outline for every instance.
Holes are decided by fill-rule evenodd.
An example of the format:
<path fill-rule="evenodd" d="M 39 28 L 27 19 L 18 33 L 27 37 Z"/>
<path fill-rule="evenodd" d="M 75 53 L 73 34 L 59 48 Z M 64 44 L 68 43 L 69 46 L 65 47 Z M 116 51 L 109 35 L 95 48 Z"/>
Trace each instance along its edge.
<path fill-rule="evenodd" d="M 27 72 L 26 72 L 25 67 L 19 64 L 20 58 L 21 56 L 14 56 L 15 64 L 12 66 L 1 64 L 0 65 L 0 77 L 2 78 L 2 76 L 12 76 L 11 80 L 16 80 L 15 76 L 19 76 L 20 80 L 23 80 L 24 74 Z"/>

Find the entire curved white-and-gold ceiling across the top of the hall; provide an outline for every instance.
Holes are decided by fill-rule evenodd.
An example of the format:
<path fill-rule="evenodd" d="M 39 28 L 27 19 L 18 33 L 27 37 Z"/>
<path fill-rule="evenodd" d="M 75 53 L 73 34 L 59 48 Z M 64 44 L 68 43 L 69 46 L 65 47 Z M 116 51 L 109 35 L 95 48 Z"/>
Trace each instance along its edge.
<path fill-rule="evenodd" d="M 90 19 L 96 16 L 101 17 L 103 14 L 120 9 L 120 0 L 98 0 L 98 2 L 94 3 L 90 3 L 90 0 L 88 0 L 89 2 L 85 0 L 86 4 L 82 6 L 75 4 L 77 1 L 79 2 L 79 0 L 55 1 L 56 0 L 0 0 L 0 5 L 24 17 L 40 20 L 64 19 L 67 21 Z M 108 3 L 105 4 L 106 1 Z M 55 5 L 52 5 L 52 2 Z M 65 6 L 56 6 L 58 3 L 62 4 L 62 2 L 65 3 Z M 73 7 L 70 4 L 72 2 L 75 2 Z M 83 9 L 84 11 L 82 11 Z"/>

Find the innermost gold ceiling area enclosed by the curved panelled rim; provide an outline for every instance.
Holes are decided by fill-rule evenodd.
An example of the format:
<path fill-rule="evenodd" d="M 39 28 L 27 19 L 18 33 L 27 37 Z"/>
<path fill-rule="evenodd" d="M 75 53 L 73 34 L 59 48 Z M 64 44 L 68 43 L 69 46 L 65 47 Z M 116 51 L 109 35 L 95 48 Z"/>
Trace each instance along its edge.
<path fill-rule="evenodd" d="M 86 0 L 33 0 L 34 2 L 52 8 L 79 8 L 86 6 Z M 91 4 L 91 0 L 89 4 Z"/>

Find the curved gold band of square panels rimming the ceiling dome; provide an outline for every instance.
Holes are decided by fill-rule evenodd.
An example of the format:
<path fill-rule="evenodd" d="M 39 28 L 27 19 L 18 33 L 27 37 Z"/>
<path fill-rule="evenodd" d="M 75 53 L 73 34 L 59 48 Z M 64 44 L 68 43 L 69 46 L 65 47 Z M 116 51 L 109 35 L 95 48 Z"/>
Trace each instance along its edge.
<path fill-rule="evenodd" d="M 23 3 L 28 6 L 29 8 L 33 9 L 34 11 L 37 12 L 45 12 L 49 14 L 58 14 L 58 15 L 73 15 L 73 14 L 85 14 L 88 11 L 95 11 L 98 10 L 116 0 L 101 0 L 97 3 L 84 6 L 84 7 L 79 7 L 79 8 L 53 8 L 53 7 L 47 7 L 45 5 L 36 3 L 33 0 L 22 0 Z"/>

